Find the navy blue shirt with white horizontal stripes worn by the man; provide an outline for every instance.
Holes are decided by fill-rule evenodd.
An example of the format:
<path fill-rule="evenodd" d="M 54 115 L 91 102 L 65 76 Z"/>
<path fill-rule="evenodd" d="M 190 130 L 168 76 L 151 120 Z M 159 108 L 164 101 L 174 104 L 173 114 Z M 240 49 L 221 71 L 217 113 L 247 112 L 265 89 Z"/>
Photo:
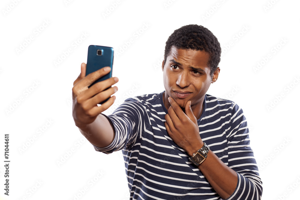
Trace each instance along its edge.
<path fill-rule="evenodd" d="M 110 154 L 122 149 L 130 199 L 221 199 L 168 135 L 162 94 L 125 100 L 107 116 L 115 131 L 113 142 L 105 148 L 94 146 L 95 150 Z M 197 122 L 203 142 L 237 172 L 238 184 L 228 199 L 261 199 L 262 181 L 242 109 L 206 94 Z"/>

